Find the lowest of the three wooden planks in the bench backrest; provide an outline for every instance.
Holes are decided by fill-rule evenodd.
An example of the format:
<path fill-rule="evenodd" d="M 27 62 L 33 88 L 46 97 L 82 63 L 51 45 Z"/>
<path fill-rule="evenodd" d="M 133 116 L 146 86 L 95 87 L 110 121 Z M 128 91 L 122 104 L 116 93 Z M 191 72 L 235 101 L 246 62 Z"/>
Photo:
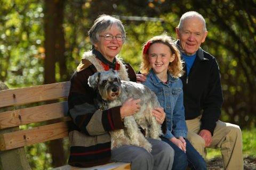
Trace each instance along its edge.
<path fill-rule="evenodd" d="M 66 122 L 39 126 L 29 130 L 5 133 L 0 136 L 0 150 L 29 146 L 35 143 L 64 138 L 67 136 L 68 126 Z"/>

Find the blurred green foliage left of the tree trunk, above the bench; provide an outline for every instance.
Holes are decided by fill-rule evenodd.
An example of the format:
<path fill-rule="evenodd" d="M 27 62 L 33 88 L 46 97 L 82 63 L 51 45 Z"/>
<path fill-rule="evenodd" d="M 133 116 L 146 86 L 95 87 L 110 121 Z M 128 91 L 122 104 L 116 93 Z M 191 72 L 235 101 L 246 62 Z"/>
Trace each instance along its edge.
<path fill-rule="evenodd" d="M 0 2 L 0 80 L 11 88 L 43 82 L 43 16 L 40 1 Z"/>

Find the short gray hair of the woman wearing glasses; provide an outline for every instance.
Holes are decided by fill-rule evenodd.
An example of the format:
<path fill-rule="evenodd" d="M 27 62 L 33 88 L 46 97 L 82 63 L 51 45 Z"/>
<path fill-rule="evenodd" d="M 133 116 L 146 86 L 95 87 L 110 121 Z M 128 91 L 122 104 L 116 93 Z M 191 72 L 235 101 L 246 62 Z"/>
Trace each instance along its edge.
<path fill-rule="evenodd" d="M 124 25 L 120 20 L 105 14 L 98 16 L 98 18 L 94 21 L 91 29 L 88 31 L 91 43 L 93 45 L 97 43 L 99 41 L 99 34 L 113 26 L 119 28 L 122 36 L 125 38 Z"/>

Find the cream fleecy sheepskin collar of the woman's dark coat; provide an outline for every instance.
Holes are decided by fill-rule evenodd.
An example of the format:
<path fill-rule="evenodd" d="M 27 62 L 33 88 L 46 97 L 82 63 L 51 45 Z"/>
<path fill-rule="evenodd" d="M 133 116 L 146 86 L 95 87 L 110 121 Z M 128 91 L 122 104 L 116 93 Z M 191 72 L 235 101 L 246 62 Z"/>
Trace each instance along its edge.
<path fill-rule="evenodd" d="M 122 62 L 122 59 L 116 56 L 116 62 L 120 64 L 119 68 L 119 76 L 121 80 L 129 81 L 129 77 L 126 71 L 126 67 Z M 77 72 L 82 71 L 89 67 L 90 65 L 94 65 L 98 72 L 105 71 L 104 67 L 101 65 L 100 60 L 92 53 L 92 51 L 85 52 L 82 57 L 81 63 L 77 67 Z"/>

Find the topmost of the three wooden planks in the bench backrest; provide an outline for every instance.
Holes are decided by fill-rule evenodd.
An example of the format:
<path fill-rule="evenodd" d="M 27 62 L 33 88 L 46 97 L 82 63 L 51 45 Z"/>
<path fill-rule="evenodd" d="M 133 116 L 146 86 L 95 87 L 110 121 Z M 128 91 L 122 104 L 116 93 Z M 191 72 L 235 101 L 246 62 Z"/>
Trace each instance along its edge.
<path fill-rule="evenodd" d="M 70 82 L 61 82 L 0 91 L 0 107 L 22 105 L 67 97 Z"/>

